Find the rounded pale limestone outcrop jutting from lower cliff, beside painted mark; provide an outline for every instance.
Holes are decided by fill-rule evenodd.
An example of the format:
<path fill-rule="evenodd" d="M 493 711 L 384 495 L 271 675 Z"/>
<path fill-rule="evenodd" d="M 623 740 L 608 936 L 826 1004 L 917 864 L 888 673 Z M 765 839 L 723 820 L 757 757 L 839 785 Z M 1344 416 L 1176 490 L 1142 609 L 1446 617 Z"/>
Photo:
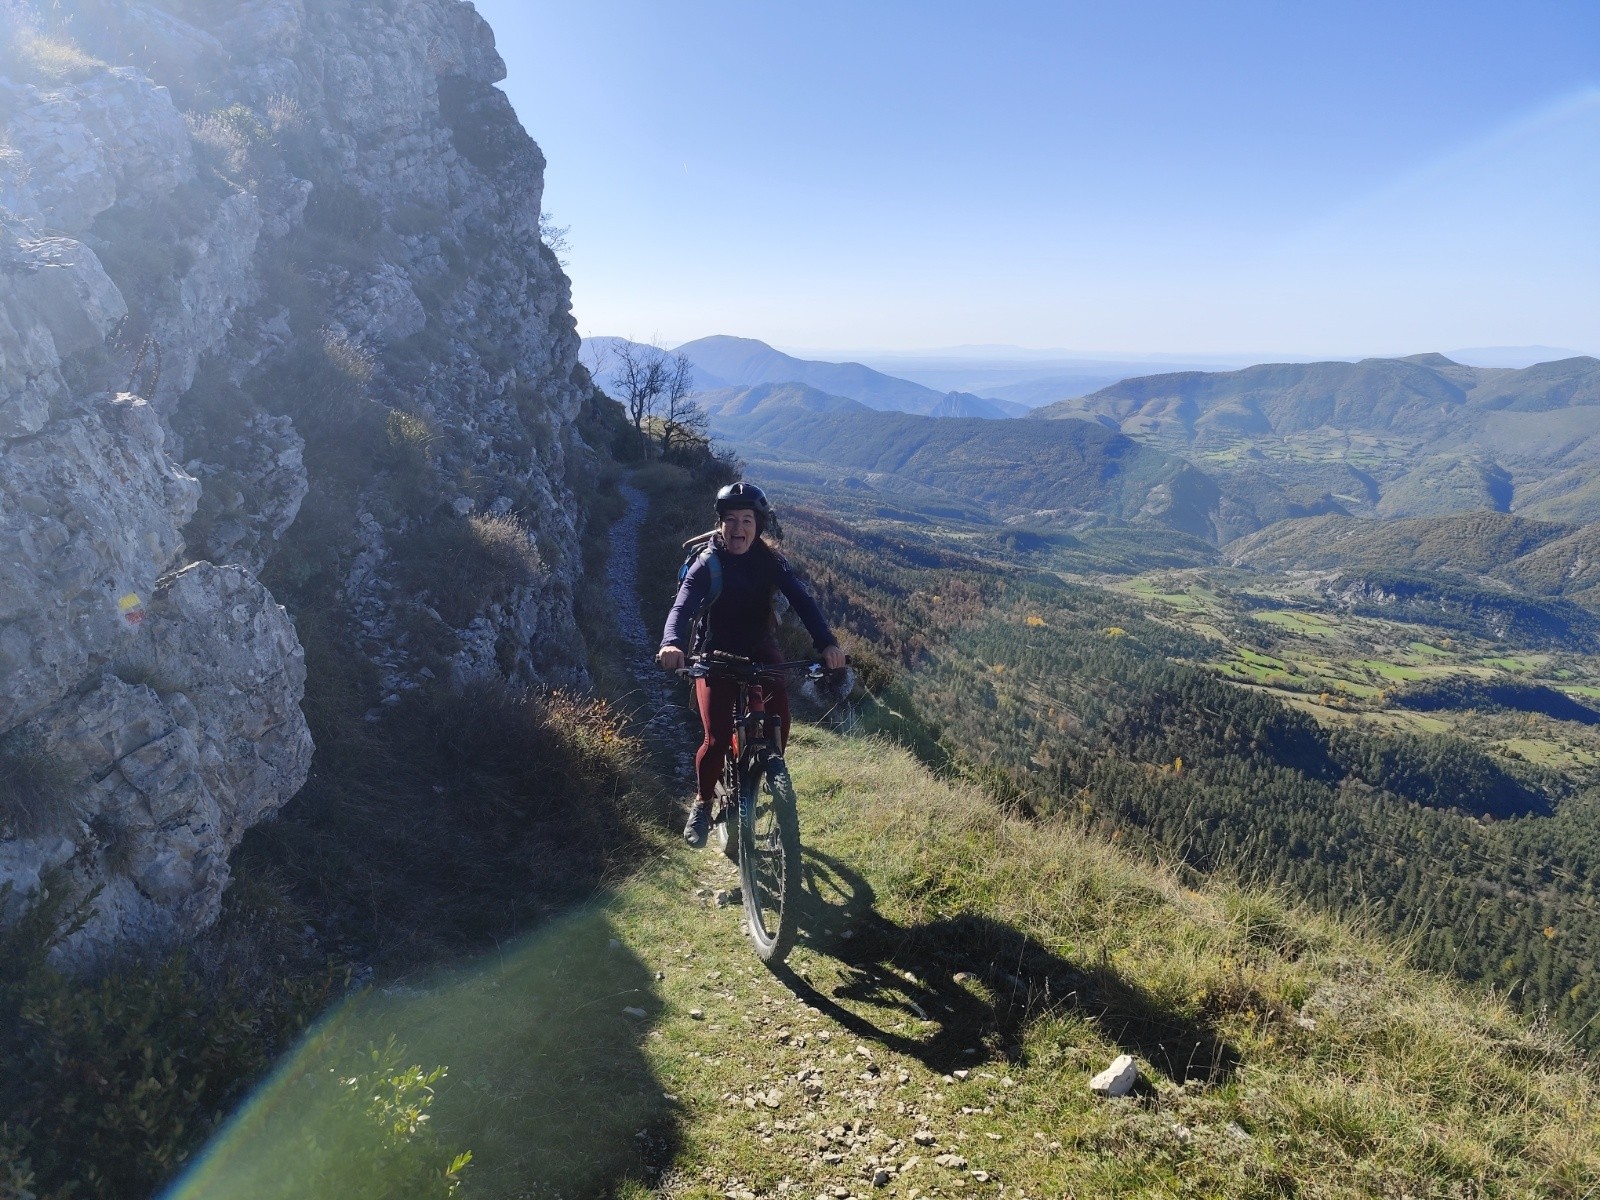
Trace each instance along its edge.
<path fill-rule="evenodd" d="M 0 842 L 0 872 L 26 890 L 66 866 L 80 886 L 101 888 L 75 958 L 210 925 L 227 853 L 310 768 L 304 659 L 261 584 L 195 563 L 146 611 L 112 670 L 22 726 L 78 781 L 80 816 L 26 850 Z"/>

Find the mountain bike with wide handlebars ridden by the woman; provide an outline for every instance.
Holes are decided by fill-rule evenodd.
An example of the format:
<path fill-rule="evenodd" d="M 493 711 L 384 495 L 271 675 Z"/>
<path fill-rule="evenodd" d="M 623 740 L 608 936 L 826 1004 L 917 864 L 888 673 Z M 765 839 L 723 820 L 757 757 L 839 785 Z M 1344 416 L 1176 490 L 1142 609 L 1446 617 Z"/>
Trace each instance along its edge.
<path fill-rule="evenodd" d="M 688 678 L 728 678 L 739 685 L 733 746 L 712 803 L 712 835 L 739 864 L 750 942 L 765 963 L 782 962 L 798 934 L 800 816 L 779 720 L 750 707 L 750 688 L 802 667 L 814 680 L 827 674 L 821 662 L 752 662 L 720 651 L 690 659 L 682 672 Z"/>

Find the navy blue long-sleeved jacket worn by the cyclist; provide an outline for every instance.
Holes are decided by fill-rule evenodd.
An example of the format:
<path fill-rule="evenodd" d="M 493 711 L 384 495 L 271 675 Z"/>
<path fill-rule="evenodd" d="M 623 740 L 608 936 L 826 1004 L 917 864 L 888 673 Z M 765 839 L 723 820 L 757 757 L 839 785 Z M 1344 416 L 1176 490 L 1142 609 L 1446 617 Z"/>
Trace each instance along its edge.
<path fill-rule="evenodd" d="M 702 555 L 678 584 L 678 595 L 667 613 L 667 627 L 661 645 L 677 646 L 685 653 L 709 653 L 723 650 L 754 659 L 773 659 L 778 650 L 778 621 L 773 616 L 773 597 L 782 594 L 795 610 L 800 622 L 811 635 L 818 653 L 834 645 L 834 634 L 822 619 L 822 610 L 795 576 L 789 560 L 766 542 L 757 541 L 744 554 L 728 554 L 720 538 L 712 554 L 722 563 L 722 594 L 706 614 L 706 630 L 699 645 L 690 646 L 694 618 L 710 595 L 710 565 Z"/>

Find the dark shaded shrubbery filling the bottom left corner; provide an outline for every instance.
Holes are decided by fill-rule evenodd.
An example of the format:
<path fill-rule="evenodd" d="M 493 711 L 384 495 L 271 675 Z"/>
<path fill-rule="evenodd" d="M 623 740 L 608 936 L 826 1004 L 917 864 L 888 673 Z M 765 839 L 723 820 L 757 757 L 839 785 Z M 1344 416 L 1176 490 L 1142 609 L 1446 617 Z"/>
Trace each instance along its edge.
<path fill-rule="evenodd" d="M 46 878 L 0 930 L 0 1195 L 27 1194 L 3 1190 L 8 1173 L 46 1197 L 149 1195 L 344 978 L 282 960 L 246 978 L 184 955 L 54 970 L 50 950 L 91 904 Z"/>

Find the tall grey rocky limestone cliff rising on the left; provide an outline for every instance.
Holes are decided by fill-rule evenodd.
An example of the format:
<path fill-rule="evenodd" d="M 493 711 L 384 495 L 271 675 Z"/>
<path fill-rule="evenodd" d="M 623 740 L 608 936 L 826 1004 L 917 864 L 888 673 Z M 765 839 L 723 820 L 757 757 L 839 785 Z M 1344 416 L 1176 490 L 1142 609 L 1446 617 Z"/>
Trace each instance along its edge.
<path fill-rule="evenodd" d="M 592 454 L 469 3 L 70 8 L 0 10 L 0 883 L 91 954 L 214 918 L 314 730 L 581 680 Z"/>

